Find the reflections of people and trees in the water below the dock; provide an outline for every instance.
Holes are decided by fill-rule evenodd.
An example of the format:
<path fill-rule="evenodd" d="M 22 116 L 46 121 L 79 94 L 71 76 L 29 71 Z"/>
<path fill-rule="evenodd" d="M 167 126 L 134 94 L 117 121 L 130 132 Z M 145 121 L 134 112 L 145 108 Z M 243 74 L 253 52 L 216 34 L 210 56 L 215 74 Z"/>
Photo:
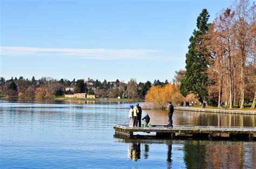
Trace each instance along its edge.
<path fill-rule="evenodd" d="M 151 146 L 159 150 L 165 146 L 167 168 L 177 166 L 179 159 L 183 159 L 186 168 L 256 168 L 255 142 L 169 139 L 118 139 L 118 142 L 128 144 L 128 158 L 134 161 L 140 159 L 140 146 L 144 147 L 144 160 L 156 156 L 154 150 L 149 151 Z"/>

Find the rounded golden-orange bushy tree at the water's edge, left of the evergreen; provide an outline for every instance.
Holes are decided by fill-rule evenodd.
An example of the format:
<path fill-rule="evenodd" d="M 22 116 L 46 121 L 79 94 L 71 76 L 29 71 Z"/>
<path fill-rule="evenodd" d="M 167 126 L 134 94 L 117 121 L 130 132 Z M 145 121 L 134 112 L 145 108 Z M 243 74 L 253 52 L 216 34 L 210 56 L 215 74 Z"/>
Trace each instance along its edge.
<path fill-rule="evenodd" d="M 164 87 L 152 86 L 145 96 L 145 101 L 149 108 L 165 109 L 166 103 L 171 101 L 174 105 L 183 102 L 185 98 L 179 92 L 178 85 L 170 83 Z"/>

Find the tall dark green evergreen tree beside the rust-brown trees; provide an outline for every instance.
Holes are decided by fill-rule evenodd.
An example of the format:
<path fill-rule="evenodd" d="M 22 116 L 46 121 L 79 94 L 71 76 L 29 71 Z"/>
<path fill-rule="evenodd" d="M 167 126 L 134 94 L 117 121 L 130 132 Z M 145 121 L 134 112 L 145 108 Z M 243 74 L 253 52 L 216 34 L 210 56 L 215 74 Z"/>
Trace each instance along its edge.
<path fill-rule="evenodd" d="M 204 36 L 207 34 L 210 24 L 210 15 L 203 9 L 197 18 L 198 30 L 193 31 L 190 38 L 190 45 L 186 54 L 186 71 L 184 78 L 180 82 L 180 92 L 184 96 L 193 93 L 200 102 L 207 100 L 208 96 L 208 76 L 206 74 L 208 57 L 206 48 L 203 47 Z"/>

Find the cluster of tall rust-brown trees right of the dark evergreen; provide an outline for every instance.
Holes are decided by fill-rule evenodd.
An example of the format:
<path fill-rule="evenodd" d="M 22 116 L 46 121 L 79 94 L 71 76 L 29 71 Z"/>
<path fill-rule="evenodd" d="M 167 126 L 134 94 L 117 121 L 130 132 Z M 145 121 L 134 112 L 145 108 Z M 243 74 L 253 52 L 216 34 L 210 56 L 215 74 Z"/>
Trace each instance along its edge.
<path fill-rule="evenodd" d="M 247 0 L 235 1 L 234 10 L 227 8 L 218 14 L 207 36 L 206 45 L 212 54 L 207 70 L 212 88 L 209 91 L 213 94 L 218 89 L 218 107 L 229 95 L 230 108 L 237 101 L 244 108 L 254 86 L 250 75 L 254 71 L 248 70 L 255 68 L 249 67 L 255 62 L 255 3 L 250 8 Z"/>

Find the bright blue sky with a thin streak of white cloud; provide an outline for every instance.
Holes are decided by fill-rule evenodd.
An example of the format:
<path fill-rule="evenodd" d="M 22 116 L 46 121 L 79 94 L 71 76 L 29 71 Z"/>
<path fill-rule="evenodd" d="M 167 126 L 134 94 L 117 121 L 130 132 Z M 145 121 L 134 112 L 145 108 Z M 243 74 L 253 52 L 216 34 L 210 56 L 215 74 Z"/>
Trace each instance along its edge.
<path fill-rule="evenodd" d="M 206 8 L 229 0 L 0 0 L 0 76 L 171 81 Z"/>

